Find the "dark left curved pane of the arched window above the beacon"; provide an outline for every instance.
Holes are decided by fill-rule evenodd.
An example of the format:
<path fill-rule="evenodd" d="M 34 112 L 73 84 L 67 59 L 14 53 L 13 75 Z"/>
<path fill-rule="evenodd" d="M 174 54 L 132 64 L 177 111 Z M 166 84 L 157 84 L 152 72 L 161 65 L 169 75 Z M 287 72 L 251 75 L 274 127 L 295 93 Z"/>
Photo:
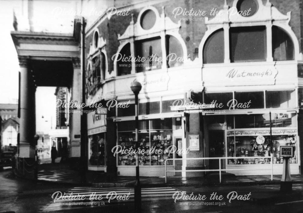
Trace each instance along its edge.
<path fill-rule="evenodd" d="M 122 47 L 122 50 L 120 51 L 117 57 L 118 76 L 131 74 L 132 61 L 130 60 L 130 57 L 131 57 L 131 46 L 130 43 L 127 43 L 125 44 L 124 47 Z M 126 58 L 129 60 L 122 61 L 122 59 L 126 59 Z"/>

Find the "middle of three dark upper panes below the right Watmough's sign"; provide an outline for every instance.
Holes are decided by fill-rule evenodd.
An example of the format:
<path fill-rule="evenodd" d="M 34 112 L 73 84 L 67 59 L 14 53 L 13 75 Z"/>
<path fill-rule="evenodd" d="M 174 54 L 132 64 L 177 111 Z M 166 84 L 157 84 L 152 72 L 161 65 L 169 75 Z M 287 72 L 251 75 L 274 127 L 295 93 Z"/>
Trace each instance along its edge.
<path fill-rule="evenodd" d="M 246 103 L 247 109 L 264 108 L 264 92 L 235 92 L 235 99 L 238 104 Z M 235 108 L 243 108 L 237 103 Z"/>

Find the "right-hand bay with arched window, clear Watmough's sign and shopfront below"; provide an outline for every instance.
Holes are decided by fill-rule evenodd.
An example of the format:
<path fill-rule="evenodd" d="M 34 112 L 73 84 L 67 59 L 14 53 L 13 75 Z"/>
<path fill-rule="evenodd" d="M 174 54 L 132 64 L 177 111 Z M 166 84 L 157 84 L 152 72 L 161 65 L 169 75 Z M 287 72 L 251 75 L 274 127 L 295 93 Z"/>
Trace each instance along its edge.
<path fill-rule="evenodd" d="M 238 11 L 240 2 L 233 1 Z M 200 99 L 209 106 L 201 108 L 200 119 L 205 157 L 235 157 L 221 161 L 221 168 L 236 175 L 269 175 L 271 163 L 273 173 L 282 174 L 280 146 L 293 146 L 291 174 L 299 174 L 298 37 L 289 25 L 290 15 L 260 0 L 250 2 L 258 7 L 249 17 L 228 13 L 226 5 L 221 12 L 228 15 L 205 20 L 208 30 L 199 46 L 204 86 Z M 205 161 L 209 169 L 218 164 Z"/>

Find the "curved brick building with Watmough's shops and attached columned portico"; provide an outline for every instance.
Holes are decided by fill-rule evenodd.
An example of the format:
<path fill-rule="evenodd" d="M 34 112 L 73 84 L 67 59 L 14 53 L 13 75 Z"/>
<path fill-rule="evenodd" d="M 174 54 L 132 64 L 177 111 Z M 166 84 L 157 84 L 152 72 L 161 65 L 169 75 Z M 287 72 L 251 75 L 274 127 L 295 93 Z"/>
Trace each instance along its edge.
<path fill-rule="evenodd" d="M 81 100 L 80 65 L 85 67 L 87 137 L 80 141 L 80 113 L 69 112 L 70 157 L 79 157 L 84 143 L 89 170 L 135 175 L 130 85 L 138 81 L 141 176 L 163 176 L 165 161 L 173 158 L 180 160 L 168 160 L 168 170 L 183 171 L 171 176 L 218 169 L 218 160 L 198 159 L 203 157 L 241 157 L 221 160 L 221 168 L 237 175 L 269 174 L 270 160 L 245 159 L 269 156 L 274 174 L 281 174 L 284 145 L 295 147 L 291 174 L 301 173 L 300 0 L 106 1 L 106 6 L 94 8 L 104 10 L 96 21 L 84 15 L 84 60 L 78 19 L 73 34 L 12 32 L 22 109 L 35 102 L 24 99 L 27 85 L 35 90 L 32 82 L 68 87 L 70 100 Z M 52 78 L 53 70 L 60 81 Z M 21 144 L 28 147 L 32 139 L 25 132 L 32 123 L 21 110 L 22 116 Z M 22 153 L 32 157 L 25 148 Z"/>

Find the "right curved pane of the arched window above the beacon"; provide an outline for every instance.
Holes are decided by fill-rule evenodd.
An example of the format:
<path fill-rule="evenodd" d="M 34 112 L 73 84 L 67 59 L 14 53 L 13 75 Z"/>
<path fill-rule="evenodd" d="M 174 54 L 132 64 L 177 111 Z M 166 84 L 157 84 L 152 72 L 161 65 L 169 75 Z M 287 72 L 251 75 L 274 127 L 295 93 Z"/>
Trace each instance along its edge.
<path fill-rule="evenodd" d="M 168 67 L 183 65 L 183 48 L 176 37 L 171 35 L 166 36 L 166 49 Z"/>

